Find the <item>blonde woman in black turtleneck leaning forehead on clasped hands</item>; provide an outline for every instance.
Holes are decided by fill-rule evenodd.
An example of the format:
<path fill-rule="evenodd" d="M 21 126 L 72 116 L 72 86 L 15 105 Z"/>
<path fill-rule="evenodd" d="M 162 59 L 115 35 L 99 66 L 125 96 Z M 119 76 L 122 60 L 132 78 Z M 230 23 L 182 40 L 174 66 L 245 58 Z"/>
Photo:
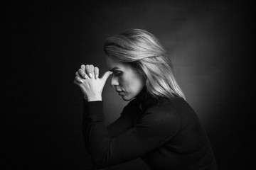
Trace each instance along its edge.
<path fill-rule="evenodd" d="M 150 169 L 218 169 L 210 142 L 178 86 L 169 55 L 146 30 L 107 38 L 107 67 L 82 65 L 74 83 L 84 95 L 82 130 L 97 168 L 139 157 Z M 105 127 L 102 89 L 111 85 L 124 101 L 121 116 Z"/>

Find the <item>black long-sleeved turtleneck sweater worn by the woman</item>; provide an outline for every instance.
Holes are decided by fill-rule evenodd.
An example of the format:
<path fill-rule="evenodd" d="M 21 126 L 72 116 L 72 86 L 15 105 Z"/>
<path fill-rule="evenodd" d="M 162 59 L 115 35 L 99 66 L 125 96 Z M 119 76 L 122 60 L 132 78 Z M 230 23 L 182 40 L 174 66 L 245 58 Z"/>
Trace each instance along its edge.
<path fill-rule="evenodd" d="M 98 168 L 141 157 L 150 169 L 218 169 L 198 116 L 178 96 L 157 99 L 143 90 L 108 127 L 103 102 L 84 100 L 82 132 Z"/>

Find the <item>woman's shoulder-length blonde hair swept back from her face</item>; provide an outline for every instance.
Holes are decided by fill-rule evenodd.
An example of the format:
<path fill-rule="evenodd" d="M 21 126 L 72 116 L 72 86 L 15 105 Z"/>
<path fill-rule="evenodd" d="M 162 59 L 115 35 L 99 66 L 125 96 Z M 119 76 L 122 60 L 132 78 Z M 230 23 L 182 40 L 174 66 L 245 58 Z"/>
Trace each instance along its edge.
<path fill-rule="evenodd" d="M 146 90 L 154 97 L 185 98 L 174 78 L 170 56 L 154 35 L 127 29 L 107 38 L 104 51 L 113 60 L 129 64 L 146 78 Z"/>

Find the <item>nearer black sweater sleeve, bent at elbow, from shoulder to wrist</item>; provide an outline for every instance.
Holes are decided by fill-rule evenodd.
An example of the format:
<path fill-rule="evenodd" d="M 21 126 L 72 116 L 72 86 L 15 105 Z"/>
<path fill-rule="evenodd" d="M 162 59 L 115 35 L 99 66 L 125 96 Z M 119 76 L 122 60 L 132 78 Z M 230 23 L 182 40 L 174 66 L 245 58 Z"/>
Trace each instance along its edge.
<path fill-rule="evenodd" d="M 98 168 L 121 164 L 163 145 L 174 137 L 179 127 L 179 121 L 169 115 L 157 109 L 148 111 L 137 125 L 121 134 L 111 135 L 105 126 L 103 102 L 84 101 L 82 132 L 92 163 Z"/>

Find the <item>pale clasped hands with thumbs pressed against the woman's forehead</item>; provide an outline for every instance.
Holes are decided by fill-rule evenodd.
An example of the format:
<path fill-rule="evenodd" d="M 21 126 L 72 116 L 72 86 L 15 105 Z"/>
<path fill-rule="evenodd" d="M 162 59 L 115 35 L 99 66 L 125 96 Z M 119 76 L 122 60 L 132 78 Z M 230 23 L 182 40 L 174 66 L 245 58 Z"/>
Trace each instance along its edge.
<path fill-rule="evenodd" d="M 75 73 L 74 83 L 82 90 L 82 94 L 87 101 L 102 101 L 102 90 L 111 71 L 105 72 L 99 78 L 99 68 L 92 64 L 82 64 L 78 72 Z"/>

